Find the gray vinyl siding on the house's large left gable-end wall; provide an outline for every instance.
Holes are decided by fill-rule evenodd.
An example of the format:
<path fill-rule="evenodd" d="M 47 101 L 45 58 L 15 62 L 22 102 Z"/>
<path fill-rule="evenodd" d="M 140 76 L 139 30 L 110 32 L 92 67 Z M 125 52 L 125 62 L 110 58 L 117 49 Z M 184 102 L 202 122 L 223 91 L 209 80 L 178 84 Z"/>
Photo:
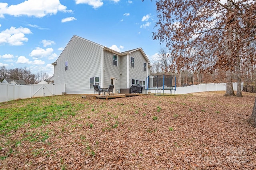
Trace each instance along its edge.
<path fill-rule="evenodd" d="M 102 46 L 73 36 L 54 66 L 54 83 L 65 83 L 68 94 L 94 93 L 90 89 L 90 77 L 100 77 Z M 68 70 L 65 71 L 65 61 Z"/>

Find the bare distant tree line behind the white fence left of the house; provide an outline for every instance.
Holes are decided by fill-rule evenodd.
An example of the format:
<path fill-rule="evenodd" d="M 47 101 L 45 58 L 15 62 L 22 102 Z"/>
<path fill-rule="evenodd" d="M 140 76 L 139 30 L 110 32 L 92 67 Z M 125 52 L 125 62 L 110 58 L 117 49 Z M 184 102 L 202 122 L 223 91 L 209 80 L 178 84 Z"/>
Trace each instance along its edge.
<path fill-rule="evenodd" d="M 2 66 L 0 67 L 0 81 L 4 79 L 24 80 L 28 84 L 37 84 L 42 80 L 49 80 L 50 77 L 43 71 L 33 74 L 27 67 L 7 69 Z"/>

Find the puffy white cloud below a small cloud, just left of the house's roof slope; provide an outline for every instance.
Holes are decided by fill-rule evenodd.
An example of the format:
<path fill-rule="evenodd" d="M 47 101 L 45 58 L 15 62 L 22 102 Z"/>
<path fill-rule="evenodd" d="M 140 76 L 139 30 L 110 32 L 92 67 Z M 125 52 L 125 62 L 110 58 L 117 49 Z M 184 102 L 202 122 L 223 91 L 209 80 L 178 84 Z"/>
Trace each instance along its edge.
<path fill-rule="evenodd" d="M 39 58 L 42 58 L 42 57 L 48 57 L 48 59 L 54 59 L 54 58 L 57 57 L 57 54 L 53 53 L 52 48 L 42 49 L 40 47 L 36 47 L 36 49 L 33 49 L 31 51 L 29 56 L 33 57 L 33 59 L 39 59 Z"/>

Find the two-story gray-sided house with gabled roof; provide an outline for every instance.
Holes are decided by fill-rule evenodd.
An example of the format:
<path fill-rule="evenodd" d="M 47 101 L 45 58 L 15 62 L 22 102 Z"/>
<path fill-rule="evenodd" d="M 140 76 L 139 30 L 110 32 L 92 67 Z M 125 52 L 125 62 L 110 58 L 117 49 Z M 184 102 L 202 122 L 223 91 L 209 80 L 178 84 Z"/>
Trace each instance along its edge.
<path fill-rule="evenodd" d="M 107 88 L 114 85 L 114 93 L 140 84 L 145 89 L 150 75 L 150 61 L 142 48 L 118 52 L 73 36 L 54 65 L 51 81 L 65 83 L 67 94 L 93 94 L 93 85 Z"/>

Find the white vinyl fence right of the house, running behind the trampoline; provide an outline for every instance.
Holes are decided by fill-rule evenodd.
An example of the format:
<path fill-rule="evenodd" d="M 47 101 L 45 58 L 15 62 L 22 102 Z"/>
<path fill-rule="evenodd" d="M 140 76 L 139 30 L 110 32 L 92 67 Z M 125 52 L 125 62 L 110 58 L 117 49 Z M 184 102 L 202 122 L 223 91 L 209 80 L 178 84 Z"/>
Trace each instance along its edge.
<path fill-rule="evenodd" d="M 243 84 L 241 83 L 241 89 L 243 89 Z M 233 83 L 233 89 L 234 91 L 237 90 L 237 83 Z M 148 90 L 151 93 L 157 93 L 158 94 L 174 94 L 174 90 Z M 226 91 L 226 83 L 209 83 L 209 84 L 200 84 L 200 85 L 191 85 L 186 87 L 177 87 L 175 94 L 188 94 L 188 93 L 198 93 L 198 92 L 205 92 L 205 91 Z"/>

